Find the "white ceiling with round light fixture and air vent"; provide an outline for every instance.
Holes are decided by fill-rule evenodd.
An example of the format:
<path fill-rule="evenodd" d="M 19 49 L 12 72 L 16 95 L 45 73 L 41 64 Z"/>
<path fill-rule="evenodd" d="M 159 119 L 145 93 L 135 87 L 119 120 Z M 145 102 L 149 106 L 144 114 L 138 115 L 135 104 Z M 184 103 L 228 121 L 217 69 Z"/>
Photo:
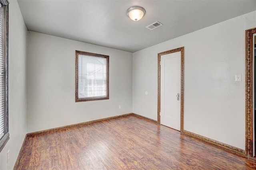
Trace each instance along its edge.
<path fill-rule="evenodd" d="M 135 52 L 256 10 L 256 0 L 18 0 L 28 30 Z M 140 21 L 126 16 L 142 6 Z M 154 30 L 149 24 L 164 24 Z M 240 23 L 237 23 L 240 24 Z"/>

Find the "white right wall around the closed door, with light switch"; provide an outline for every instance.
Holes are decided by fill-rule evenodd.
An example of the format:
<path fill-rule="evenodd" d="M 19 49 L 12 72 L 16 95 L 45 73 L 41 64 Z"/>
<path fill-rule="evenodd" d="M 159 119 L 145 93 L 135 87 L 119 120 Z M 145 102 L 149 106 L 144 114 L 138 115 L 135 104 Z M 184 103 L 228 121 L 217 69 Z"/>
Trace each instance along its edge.
<path fill-rule="evenodd" d="M 184 46 L 184 129 L 245 149 L 245 30 L 256 27 L 255 16 L 133 53 L 133 112 L 157 120 L 157 54 Z M 242 82 L 235 82 L 235 74 L 242 74 Z"/>

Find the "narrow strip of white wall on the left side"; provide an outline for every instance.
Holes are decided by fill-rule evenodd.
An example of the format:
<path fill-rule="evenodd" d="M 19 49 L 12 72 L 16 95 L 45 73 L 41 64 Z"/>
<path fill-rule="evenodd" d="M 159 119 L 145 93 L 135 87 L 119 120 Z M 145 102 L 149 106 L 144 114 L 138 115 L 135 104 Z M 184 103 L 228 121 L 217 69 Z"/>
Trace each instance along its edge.
<path fill-rule="evenodd" d="M 16 0 L 9 0 L 9 133 L 0 153 L 0 169 L 13 168 L 27 133 L 27 28 Z M 7 163 L 7 151 L 10 160 Z"/>

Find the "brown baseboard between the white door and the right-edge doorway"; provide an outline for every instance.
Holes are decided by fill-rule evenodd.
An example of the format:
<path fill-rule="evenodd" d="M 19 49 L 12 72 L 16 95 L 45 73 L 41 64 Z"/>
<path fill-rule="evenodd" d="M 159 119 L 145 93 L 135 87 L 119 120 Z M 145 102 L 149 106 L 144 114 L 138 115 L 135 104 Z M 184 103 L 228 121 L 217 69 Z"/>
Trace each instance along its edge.
<path fill-rule="evenodd" d="M 221 143 L 219 141 L 215 141 L 213 139 L 210 139 L 208 137 L 204 137 L 204 136 L 198 135 L 196 133 L 192 133 L 192 132 L 189 132 L 189 131 L 186 131 L 186 130 L 184 130 L 183 133 L 185 135 L 189 135 L 190 137 L 194 137 L 194 138 L 200 139 L 200 140 L 202 140 L 204 142 L 207 142 L 207 143 L 212 143 L 214 145 L 217 145 L 217 146 L 225 148 L 225 149 L 230 149 L 232 151 L 236 151 L 236 152 L 240 152 L 240 153 L 245 153 L 245 150 L 243 150 L 243 149 L 240 149 L 240 148 L 237 148 L 237 147 L 233 147 L 231 145 L 227 145 L 227 144 Z"/>

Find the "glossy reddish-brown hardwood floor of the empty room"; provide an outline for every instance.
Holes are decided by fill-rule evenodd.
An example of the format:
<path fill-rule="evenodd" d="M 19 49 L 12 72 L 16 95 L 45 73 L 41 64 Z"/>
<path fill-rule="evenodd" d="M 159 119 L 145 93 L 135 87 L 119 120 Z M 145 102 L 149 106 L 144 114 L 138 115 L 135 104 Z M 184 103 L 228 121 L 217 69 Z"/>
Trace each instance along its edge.
<path fill-rule="evenodd" d="M 135 115 L 27 137 L 18 170 L 256 169 L 256 160 Z"/>

